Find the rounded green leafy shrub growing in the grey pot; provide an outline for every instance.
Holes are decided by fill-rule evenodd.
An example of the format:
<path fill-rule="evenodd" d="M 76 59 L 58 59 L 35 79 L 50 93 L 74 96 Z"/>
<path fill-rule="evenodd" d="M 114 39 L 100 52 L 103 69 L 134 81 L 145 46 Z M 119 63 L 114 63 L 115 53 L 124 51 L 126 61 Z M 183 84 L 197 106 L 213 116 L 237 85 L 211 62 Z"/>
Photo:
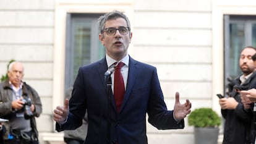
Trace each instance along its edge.
<path fill-rule="evenodd" d="M 189 114 L 188 121 L 195 127 L 218 127 L 221 117 L 211 108 L 198 108 Z"/>

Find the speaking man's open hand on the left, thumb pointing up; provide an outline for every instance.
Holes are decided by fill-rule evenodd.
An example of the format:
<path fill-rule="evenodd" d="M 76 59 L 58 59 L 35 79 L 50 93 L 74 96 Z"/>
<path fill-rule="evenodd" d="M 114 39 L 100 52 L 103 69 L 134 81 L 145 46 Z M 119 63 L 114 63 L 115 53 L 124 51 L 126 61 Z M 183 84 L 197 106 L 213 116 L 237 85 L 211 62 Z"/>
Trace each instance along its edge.
<path fill-rule="evenodd" d="M 63 123 L 69 116 L 69 99 L 64 101 L 64 106 L 57 106 L 53 111 L 53 119 L 58 123 Z"/>

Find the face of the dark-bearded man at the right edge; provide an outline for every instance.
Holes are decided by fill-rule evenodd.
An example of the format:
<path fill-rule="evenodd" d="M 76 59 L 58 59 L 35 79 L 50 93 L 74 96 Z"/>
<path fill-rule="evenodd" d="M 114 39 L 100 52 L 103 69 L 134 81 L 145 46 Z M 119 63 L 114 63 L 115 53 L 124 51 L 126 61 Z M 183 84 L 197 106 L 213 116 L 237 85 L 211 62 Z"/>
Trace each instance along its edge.
<path fill-rule="evenodd" d="M 256 53 L 255 49 L 252 48 L 245 48 L 241 52 L 241 56 L 239 59 L 240 69 L 244 73 L 244 75 L 249 75 L 250 73 L 254 72 L 255 66 L 254 62 L 252 61 L 252 56 Z"/>

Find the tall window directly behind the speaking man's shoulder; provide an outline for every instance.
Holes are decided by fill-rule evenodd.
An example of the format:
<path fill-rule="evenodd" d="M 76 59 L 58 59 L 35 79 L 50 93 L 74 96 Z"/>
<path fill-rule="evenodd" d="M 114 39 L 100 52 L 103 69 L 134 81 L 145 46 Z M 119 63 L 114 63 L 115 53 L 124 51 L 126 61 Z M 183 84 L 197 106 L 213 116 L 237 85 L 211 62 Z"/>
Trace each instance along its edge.
<path fill-rule="evenodd" d="M 65 90 L 71 87 L 80 66 L 105 56 L 98 35 L 98 17 L 102 14 L 67 14 Z"/>

